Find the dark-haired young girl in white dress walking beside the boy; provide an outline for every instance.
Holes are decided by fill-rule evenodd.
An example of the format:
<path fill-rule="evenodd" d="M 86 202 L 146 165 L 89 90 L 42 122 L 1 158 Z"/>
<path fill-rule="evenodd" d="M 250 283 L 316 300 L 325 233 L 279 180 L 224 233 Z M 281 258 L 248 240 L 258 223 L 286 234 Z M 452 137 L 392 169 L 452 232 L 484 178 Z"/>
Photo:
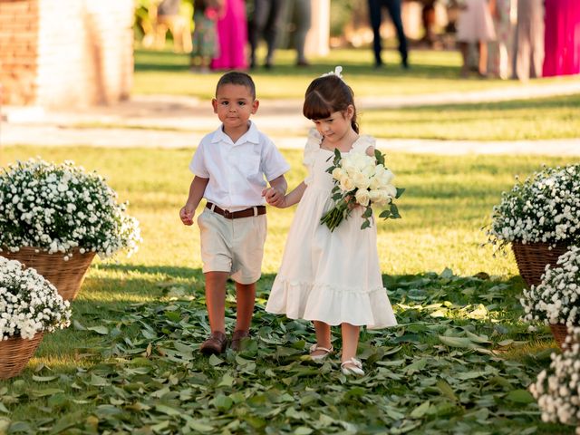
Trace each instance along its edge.
<path fill-rule="evenodd" d="M 340 324 L 341 369 L 344 374 L 364 374 L 362 363 L 355 358 L 360 327 L 397 324 L 382 286 L 376 227 L 361 229 L 361 207 L 353 208 L 351 216 L 333 232 L 320 224 L 320 218 L 333 206 L 333 179 L 326 169 L 332 165 L 334 150 L 343 155 L 366 152 L 373 156 L 374 140 L 359 136 L 353 90 L 339 73 L 310 84 L 303 113 L 315 125 L 304 150 L 308 176 L 284 197 L 268 200 L 279 208 L 300 203 L 266 311 L 314 322 L 313 360 L 333 353 L 330 327 Z M 266 199 L 268 193 L 266 189 Z"/>

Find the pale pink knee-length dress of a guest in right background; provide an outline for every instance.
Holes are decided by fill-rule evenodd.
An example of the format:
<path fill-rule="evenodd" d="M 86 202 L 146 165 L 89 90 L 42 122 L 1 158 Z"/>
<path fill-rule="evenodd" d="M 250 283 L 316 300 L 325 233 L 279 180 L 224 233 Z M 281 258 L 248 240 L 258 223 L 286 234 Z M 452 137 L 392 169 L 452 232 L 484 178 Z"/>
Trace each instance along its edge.
<path fill-rule="evenodd" d="M 459 43 L 487 43 L 496 39 L 487 0 L 464 0 L 459 12 L 457 40 Z"/>

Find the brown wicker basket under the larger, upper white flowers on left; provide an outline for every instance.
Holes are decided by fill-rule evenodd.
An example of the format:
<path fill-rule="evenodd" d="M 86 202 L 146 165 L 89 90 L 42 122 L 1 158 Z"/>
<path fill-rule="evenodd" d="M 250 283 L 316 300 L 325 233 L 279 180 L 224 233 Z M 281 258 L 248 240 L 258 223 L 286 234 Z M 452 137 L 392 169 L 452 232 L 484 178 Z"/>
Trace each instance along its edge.
<path fill-rule="evenodd" d="M 18 260 L 26 267 L 33 267 L 56 287 L 64 300 L 72 301 L 79 293 L 94 252 L 81 254 L 77 248 L 73 250 L 73 256 L 64 261 L 64 254 L 61 252 L 48 254 L 35 247 L 21 247 L 18 252 L 4 250 L 0 252 L 0 256 Z"/>

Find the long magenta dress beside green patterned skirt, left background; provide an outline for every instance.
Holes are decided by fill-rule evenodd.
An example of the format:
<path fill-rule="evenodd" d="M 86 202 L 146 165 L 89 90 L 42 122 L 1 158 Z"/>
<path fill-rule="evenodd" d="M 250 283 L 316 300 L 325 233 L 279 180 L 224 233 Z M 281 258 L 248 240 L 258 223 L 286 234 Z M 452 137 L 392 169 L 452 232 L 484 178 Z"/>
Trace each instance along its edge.
<path fill-rule="evenodd" d="M 244 0 L 226 0 L 225 12 L 218 19 L 219 57 L 211 61 L 212 70 L 247 69 L 247 24 Z"/>

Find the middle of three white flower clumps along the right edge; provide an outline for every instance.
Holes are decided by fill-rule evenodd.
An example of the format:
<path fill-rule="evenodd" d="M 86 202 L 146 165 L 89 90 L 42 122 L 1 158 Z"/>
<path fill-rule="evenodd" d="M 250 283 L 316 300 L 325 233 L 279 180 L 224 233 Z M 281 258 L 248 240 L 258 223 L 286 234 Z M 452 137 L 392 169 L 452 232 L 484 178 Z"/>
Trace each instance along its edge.
<path fill-rule="evenodd" d="M 520 303 L 524 321 L 580 324 L 580 247 L 569 247 L 556 266 L 546 266 L 542 282 L 524 290 Z"/>

